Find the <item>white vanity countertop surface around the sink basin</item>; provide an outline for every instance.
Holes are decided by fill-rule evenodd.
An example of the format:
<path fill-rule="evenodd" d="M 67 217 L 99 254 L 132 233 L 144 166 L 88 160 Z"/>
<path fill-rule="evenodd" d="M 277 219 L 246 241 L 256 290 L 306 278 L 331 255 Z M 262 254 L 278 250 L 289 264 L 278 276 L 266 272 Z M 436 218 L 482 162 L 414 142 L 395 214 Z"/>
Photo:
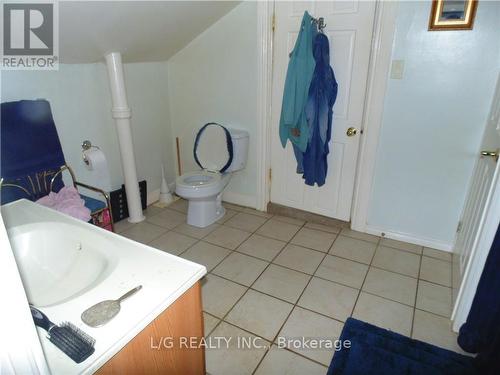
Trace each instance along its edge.
<path fill-rule="evenodd" d="M 44 330 L 37 327 L 47 363 L 54 374 L 95 372 L 207 272 L 202 265 L 28 200 L 4 205 L 1 212 L 8 231 L 27 224 L 47 223 L 53 227 L 60 223 L 61 227 L 66 228 L 71 225 L 75 228 L 76 242 L 80 240 L 79 236 L 84 236 L 85 241 L 91 241 L 94 247 L 100 248 L 102 244 L 100 251 L 109 259 L 110 269 L 99 278 L 97 285 L 61 303 L 36 306 L 54 323 L 71 322 L 96 340 L 95 353 L 76 364 L 46 338 Z M 88 307 L 103 300 L 116 299 L 138 285 L 142 285 L 142 289 L 122 302 L 120 313 L 108 324 L 91 328 L 82 322 L 80 315 Z"/>

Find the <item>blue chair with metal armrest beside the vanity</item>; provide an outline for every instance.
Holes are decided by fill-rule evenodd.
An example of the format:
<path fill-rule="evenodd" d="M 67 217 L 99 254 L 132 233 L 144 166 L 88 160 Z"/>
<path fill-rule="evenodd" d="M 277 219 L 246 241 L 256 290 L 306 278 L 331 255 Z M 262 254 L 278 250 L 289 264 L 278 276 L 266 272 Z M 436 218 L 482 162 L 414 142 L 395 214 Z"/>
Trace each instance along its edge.
<path fill-rule="evenodd" d="M 109 210 L 114 230 L 109 195 L 77 181 L 66 164 L 49 102 L 20 100 L 1 106 L 1 204 L 22 198 L 36 201 L 51 191 L 58 192 L 64 186 L 62 174 L 68 171 L 76 189 L 88 189 L 103 196 L 104 201 L 80 194 L 93 217 L 106 208 Z"/>

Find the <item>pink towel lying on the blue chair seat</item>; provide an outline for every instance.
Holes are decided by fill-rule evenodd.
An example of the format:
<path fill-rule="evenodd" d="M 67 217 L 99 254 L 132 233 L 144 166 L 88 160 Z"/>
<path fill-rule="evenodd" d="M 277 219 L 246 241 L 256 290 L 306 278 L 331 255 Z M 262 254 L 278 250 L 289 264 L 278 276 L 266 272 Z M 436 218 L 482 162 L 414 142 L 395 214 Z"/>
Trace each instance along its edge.
<path fill-rule="evenodd" d="M 73 186 L 64 186 L 58 193 L 50 192 L 36 202 L 77 219 L 90 220 L 90 210 L 85 207 L 84 200 Z"/>

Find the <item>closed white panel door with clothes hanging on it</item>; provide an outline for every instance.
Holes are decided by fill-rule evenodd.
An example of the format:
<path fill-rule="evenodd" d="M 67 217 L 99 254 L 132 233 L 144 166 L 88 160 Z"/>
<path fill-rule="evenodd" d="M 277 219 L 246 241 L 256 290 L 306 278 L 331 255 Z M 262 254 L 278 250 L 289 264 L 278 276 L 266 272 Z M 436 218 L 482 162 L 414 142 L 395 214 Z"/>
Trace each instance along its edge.
<path fill-rule="evenodd" d="M 324 33 L 330 40 L 330 63 L 339 85 L 333 109 L 328 175 L 322 187 L 304 184 L 302 176 L 296 173 L 290 142 L 283 149 L 279 140 L 289 53 L 305 10 L 313 17 L 325 19 Z M 275 2 L 271 202 L 341 220 L 350 219 L 374 13 L 375 2 L 372 1 Z M 349 127 L 357 129 L 357 135 L 348 137 L 346 131 Z"/>

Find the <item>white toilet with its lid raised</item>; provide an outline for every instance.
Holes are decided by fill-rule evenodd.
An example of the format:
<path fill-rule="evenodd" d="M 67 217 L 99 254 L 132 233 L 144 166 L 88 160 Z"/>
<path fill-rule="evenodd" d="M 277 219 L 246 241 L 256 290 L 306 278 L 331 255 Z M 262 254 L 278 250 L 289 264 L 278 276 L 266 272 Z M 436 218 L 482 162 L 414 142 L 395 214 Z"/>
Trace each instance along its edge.
<path fill-rule="evenodd" d="M 179 176 L 175 193 L 188 200 L 187 223 L 204 228 L 225 214 L 222 191 L 233 172 L 245 168 L 249 134 L 209 123 L 196 135 L 193 156 L 201 170 Z"/>

